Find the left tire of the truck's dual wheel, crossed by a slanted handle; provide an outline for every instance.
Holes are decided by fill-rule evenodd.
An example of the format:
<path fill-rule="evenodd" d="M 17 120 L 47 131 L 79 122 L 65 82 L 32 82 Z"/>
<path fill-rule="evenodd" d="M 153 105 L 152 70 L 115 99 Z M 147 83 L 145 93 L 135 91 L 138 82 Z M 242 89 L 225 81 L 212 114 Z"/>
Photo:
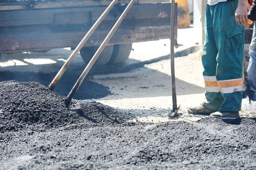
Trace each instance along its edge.
<path fill-rule="evenodd" d="M 90 59 L 93 58 L 93 55 L 98 50 L 99 46 L 93 47 L 83 47 L 80 50 L 80 54 L 85 63 L 89 63 Z M 99 58 L 96 60 L 95 65 L 106 65 L 113 53 L 113 45 L 106 46 L 102 53 L 99 55 Z"/>

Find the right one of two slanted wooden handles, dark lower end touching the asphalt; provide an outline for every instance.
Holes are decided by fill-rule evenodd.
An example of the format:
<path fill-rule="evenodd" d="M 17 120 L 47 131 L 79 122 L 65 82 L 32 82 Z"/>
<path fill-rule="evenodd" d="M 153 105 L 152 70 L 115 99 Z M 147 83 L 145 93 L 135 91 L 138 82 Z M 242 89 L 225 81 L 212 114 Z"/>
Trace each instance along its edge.
<path fill-rule="evenodd" d="M 86 77 L 86 75 L 88 74 L 88 72 L 90 71 L 90 69 L 92 68 L 93 64 L 96 62 L 96 60 L 98 59 L 99 55 L 101 54 L 101 52 L 103 51 L 103 49 L 105 48 L 105 46 L 107 45 L 107 43 L 109 42 L 109 40 L 111 39 L 111 37 L 113 36 L 113 34 L 116 32 L 116 29 L 118 28 L 118 26 L 120 25 L 120 23 L 122 22 L 122 20 L 124 19 L 124 17 L 126 16 L 126 14 L 128 13 L 128 11 L 131 9 L 131 7 L 133 6 L 133 4 L 135 3 L 136 0 L 131 0 L 131 2 L 128 4 L 128 6 L 125 8 L 125 11 L 122 13 L 122 15 L 119 17 L 119 19 L 116 21 L 115 25 L 113 26 L 113 28 L 111 29 L 111 31 L 108 33 L 107 37 L 105 38 L 105 40 L 102 42 L 102 44 L 100 45 L 99 49 L 96 51 L 96 53 L 94 54 L 93 58 L 90 60 L 90 62 L 88 63 L 88 65 L 86 66 L 86 68 L 84 69 L 83 73 L 81 74 L 81 76 L 79 77 L 79 79 L 76 81 L 76 84 L 73 86 L 72 90 L 70 91 L 70 93 L 67 96 L 67 99 L 65 99 L 65 105 L 69 106 L 71 99 L 73 98 L 74 94 L 76 93 L 76 91 L 78 90 L 79 86 L 81 85 L 81 83 L 83 82 L 84 78 Z"/>

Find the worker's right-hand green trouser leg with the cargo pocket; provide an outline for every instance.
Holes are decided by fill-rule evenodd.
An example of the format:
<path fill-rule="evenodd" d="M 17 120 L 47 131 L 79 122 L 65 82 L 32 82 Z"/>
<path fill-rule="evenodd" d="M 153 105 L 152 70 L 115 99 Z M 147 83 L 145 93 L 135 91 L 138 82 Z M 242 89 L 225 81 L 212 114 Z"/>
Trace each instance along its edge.
<path fill-rule="evenodd" d="M 214 34 L 218 49 L 216 79 L 224 98 L 219 111 L 240 111 L 243 91 L 244 26 L 238 26 L 238 0 L 215 6 Z"/>

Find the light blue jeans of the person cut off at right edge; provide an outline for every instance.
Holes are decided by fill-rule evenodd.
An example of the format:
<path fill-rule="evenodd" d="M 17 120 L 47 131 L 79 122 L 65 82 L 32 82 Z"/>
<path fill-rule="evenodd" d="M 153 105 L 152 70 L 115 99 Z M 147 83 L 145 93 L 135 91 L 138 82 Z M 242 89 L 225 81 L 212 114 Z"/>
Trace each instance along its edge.
<path fill-rule="evenodd" d="M 249 48 L 249 65 L 247 68 L 247 74 L 249 79 L 249 85 L 252 91 L 256 92 L 256 22 L 253 26 L 253 38 Z M 251 100 L 256 101 L 256 94 L 253 93 Z"/>

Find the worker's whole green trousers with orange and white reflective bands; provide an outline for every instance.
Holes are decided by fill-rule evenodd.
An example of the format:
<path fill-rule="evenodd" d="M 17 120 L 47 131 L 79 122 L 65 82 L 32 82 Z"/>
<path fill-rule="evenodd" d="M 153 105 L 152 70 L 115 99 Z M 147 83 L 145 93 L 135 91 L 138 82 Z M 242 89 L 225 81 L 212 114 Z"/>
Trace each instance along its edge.
<path fill-rule="evenodd" d="M 207 5 L 202 53 L 203 106 L 215 111 L 240 111 L 243 91 L 244 26 L 236 24 L 238 0 Z"/>

